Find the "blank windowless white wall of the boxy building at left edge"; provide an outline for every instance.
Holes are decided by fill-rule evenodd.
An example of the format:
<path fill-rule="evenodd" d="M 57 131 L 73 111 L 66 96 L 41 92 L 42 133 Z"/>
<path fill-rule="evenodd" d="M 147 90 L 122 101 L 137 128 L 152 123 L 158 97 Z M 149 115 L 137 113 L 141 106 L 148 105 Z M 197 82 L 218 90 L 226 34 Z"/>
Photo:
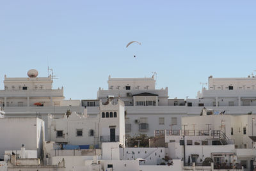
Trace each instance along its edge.
<path fill-rule="evenodd" d="M 40 129 L 39 129 L 40 128 Z M 44 141 L 44 121 L 38 118 L 0 118 L 0 158 L 4 151 L 19 150 L 21 145 L 38 151 L 40 156 Z"/>

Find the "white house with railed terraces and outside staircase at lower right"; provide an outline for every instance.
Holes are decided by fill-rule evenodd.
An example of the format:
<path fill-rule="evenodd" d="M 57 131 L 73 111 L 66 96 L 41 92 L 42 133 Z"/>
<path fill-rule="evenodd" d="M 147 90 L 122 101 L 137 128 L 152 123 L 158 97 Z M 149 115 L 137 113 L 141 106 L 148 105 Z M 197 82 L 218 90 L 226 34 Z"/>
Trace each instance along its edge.
<path fill-rule="evenodd" d="M 205 115 L 204 115 L 205 114 Z M 182 117 L 182 130 L 157 130 L 165 135 L 168 156 L 188 163 L 202 163 L 207 158 L 214 168 L 235 166 L 244 170 L 255 167 L 256 115 L 203 115 Z M 234 163 L 234 160 L 236 162 Z"/>

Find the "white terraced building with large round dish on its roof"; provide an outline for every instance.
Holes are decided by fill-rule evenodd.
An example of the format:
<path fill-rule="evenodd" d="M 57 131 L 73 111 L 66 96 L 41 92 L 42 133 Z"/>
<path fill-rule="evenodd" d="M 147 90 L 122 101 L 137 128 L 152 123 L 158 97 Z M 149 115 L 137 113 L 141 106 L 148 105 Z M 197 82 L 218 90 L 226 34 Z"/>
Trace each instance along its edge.
<path fill-rule="evenodd" d="M 38 71 L 29 70 L 28 77 L 10 78 L 4 75 L 4 90 L 0 90 L 0 106 L 5 117 L 62 117 L 67 110 L 83 113 L 80 100 L 65 100 L 63 87 L 52 89 L 52 76 L 37 77 Z M 47 134 L 47 130 L 45 130 Z M 47 140 L 48 137 L 45 137 Z"/>

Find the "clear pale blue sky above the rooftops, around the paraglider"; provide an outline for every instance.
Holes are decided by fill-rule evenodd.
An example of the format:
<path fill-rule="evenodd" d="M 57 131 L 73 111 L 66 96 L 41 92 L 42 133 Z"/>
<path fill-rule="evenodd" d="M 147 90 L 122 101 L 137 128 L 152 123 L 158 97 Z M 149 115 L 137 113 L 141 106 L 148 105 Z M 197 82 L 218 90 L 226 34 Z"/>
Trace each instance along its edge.
<path fill-rule="evenodd" d="M 170 98 L 195 98 L 208 77 L 256 70 L 256 1 L 0 1 L 4 75 L 47 77 L 66 98 L 94 99 L 111 77 L 151 77 Z M 132 40 L 140 45 L 125 45 Z M 136 58 L 134 58 L 134 54 Z"/>

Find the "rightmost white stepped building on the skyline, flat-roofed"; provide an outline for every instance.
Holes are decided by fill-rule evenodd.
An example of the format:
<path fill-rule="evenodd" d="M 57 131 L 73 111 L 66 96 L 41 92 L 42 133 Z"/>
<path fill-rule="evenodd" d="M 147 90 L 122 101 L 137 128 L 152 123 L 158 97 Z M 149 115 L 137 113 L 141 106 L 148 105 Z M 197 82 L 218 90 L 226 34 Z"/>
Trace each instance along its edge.
<path fill-rule="evenodd" d="M 208 79 L 208 89 L 198 93 L 198 99 L 187 100 L 188 106 L 233 107 L 256 106 L 256 78 L 213 78 Z M 250 107 L 248 107 L 250 108 Z M 255 112 L 255 108 L 252 108 Z M 226 111 L 230 113 L 228 110 Z M 250 111 L 249 111 L 250 112 Z"/>

